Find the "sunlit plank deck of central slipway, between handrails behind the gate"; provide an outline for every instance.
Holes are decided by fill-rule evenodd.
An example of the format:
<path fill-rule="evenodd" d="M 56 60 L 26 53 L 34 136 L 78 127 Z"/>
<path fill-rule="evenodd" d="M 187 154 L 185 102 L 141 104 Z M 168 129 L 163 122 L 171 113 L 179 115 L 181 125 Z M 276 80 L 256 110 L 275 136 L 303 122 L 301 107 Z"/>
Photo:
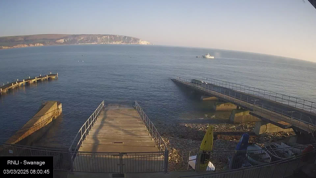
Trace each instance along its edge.
<path fill-rule="evenodd" d="M 155 141 L 134 108 L 106 107 L 79 151 L 155 152 Z"/>

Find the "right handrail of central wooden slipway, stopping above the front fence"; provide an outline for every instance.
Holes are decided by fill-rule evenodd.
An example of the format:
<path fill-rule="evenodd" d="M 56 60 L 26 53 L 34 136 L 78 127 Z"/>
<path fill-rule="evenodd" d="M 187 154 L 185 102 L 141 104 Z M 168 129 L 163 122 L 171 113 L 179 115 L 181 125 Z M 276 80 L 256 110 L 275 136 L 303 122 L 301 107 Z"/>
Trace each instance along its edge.
<path fill-rule="evenodd" d="M 163 145 L 164 150 L 168 150 L 153 122 L 148 118 L 148 116 L 146 115 L 142 107 L 140 107 L 137 101 L 135 101 L 135 109 L 139 114 L 139 117 L 142 119 L 144 126 L 146 126 L 146 130 L 148 130 L 149 134 L 152 135 L 152 139 L 155 139 L 155 145 L 159 145 L 159 151 L 162 150 L 161 145 Z"/>

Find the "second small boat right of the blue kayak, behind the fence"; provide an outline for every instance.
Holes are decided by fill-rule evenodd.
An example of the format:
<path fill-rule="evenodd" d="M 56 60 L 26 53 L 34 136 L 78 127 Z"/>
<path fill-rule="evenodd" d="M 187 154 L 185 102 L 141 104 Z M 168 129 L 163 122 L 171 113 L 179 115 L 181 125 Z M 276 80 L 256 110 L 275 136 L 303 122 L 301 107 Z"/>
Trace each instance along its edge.
<path fill-rule="evenodd" d="M 264 147 L 267 149 L 272 161 L 278 161 L 294 156 L 294 153 L 284 145 L 268 143 L 265 144 Z"/>

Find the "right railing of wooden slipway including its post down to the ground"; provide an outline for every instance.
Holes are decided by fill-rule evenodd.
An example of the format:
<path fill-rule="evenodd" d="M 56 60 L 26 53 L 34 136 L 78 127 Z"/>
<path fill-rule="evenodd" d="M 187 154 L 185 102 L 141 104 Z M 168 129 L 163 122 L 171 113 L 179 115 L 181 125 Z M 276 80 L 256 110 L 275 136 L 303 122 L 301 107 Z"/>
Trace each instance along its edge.
<path fill-rule="evenodd" d="M 154 126 L 153 122 L 148 118 L 147 114 L 144 112 L 142 107 L 135 101 L 135 109 L 139 114 L 139 117 L 143 121 L 144 126 L 146 127 L 146 131 L 148 134 L 152 136 L 152 140 L 155 140 L 155 146 L 158 145 L 158 149 L 160 152 L 164 151 L 164 170 L 168 172 L 168 161 L 169 161 L 169 151 L 164 143 L 163 139 L 161 138 L 160 134 L 158 133 L 156 127 Z"/>

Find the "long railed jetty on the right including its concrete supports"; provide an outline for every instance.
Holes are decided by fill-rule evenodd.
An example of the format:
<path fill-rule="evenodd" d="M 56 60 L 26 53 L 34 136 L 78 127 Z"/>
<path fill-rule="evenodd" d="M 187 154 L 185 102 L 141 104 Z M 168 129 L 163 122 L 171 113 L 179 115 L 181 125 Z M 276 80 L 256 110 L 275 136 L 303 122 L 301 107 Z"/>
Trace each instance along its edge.
<path fill-rule="evenodd" d="M 213 107 L 215 110 L 224 110 L 224 108 L 227 110 L 227 106 L 232 110 L 238 109 L 237 107 L 248 110 L 249 113 L 238 113 L 238 117 L 240 118 L 239 122 L 241 120 L 247 120 L 250 114 L 265 122 L 258 124 L 258 128 L 260 127 L 258 131 L 264 128 L 270 129 L 271 127 L 271 132 L 279 132 L 280 129 L 274 129 L 274 127 L 277 126 L 284 129 L 284 131 L 287 129 L 293 129 L 295 134 L 304 134 L 305 136 L 311 138 L 311 141 L 316 141 L 316 138 L 314 137 L 314 135 L 316 135 L 316 118 L 313 117 L 315 115 L 313 112 L 308 112 L 291 105 L 284 105 L 282 102 L 278 103 L 265 98 L 261 99 L 260 96 L 254 97 L 249 93 L 235 91 L 233 89 L 216 86 L 210 83 L 197 83 L 181 77 L 171 80 L 175 83 L 180 83 L 186 87 L 194 89 L 203 95 L 206 94 L 212 97 L 217 97 L 221 102 L 229 103 L 224 103 L 224 105 L 222 105 L 223 103 L 216 103 L 216 107 Z M 310 107 L 312 108 L 313 105 L 311 104 Z M 234 122 L 235 118 L 237 118 L 235 117 L 236 112 L 232 114 L 234 117 L 231 117 L 231 122 Z M 271 125 L 267 125 L 267 123 L 271 123 Z"/>

